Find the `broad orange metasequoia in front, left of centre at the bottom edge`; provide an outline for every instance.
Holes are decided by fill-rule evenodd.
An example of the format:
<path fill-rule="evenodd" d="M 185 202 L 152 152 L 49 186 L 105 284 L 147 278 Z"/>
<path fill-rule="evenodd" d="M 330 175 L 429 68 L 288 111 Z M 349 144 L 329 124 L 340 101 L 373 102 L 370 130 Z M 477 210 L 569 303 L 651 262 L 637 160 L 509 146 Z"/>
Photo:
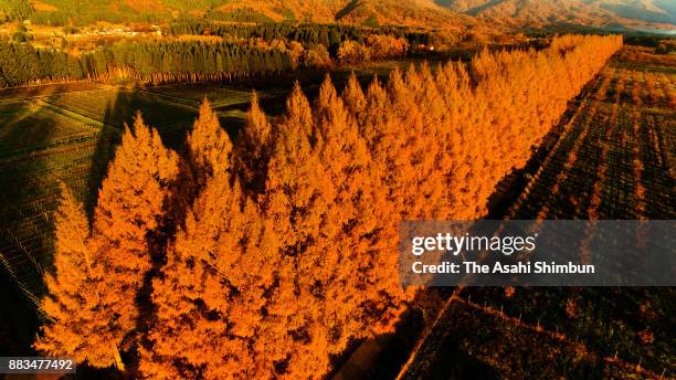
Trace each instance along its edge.
<path fill-rule="evenodd" d="M 268 377 L 275 345 L 263 308 L 275 244 L 255 204 L 226 173 L 209 179 L 152 283 L 155 323 L 141 347 L 147 378 Z M 270 323 L 270 321 L 267 321 Z M 270 340 L 270 338 L 274 338 Z"/>

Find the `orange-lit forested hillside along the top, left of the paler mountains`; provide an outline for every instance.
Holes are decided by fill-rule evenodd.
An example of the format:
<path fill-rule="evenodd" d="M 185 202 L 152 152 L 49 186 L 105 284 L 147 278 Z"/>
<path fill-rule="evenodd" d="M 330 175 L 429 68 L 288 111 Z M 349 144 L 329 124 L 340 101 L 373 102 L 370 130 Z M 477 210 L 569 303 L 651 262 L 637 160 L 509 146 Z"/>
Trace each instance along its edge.
<path fill-rule="evenodd" d="M 341 22 L 363 25 L 458 29 L 475 23 L 472 17 L 433 0 L 0 0 L 0 21 L 40 24 L 163 22 L 198 17 L 243 22 Z"/>

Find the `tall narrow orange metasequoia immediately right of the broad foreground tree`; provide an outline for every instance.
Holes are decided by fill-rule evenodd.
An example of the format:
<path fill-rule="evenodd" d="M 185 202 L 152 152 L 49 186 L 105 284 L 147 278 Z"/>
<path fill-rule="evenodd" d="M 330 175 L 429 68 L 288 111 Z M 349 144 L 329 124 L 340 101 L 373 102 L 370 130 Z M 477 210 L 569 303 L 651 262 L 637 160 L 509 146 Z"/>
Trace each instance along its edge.
<path fill-rule="evenodd" d="M 324 228 L 330 229 L 327 210 L 336 189 L 317 154 L 320 136 L 314 128 L 309 102 L 297 83 L 286 104 L 268 162 L 263 208 L 279 240 L 285 266 L 279 286 L 272 293 L 275 304 L 271 313 L 292 337 L 286 348 L 286 373 L 304 378 L 318 369 L 326 371 L 329 365 L 328 330 L 319 325 L 323 305 L 314 295 L 321 292 L 321 283 L 316 275 L 304 275 L 313 265 L 318 272 L 324 267 L 317 240 L 326 233 Z"/>

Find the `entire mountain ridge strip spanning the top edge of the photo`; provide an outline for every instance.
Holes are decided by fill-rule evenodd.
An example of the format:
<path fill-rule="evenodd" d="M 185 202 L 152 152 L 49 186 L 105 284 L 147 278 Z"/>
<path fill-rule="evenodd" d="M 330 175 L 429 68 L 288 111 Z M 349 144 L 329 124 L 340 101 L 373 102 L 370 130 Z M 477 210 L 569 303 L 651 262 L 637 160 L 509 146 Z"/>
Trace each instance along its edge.
<path fill-rule="evenodd" d="M 676 32 L 676 0 L 0 0 L 0 22 L 156 23 L 182 17 L 458 31 L 592 27 Z"/>

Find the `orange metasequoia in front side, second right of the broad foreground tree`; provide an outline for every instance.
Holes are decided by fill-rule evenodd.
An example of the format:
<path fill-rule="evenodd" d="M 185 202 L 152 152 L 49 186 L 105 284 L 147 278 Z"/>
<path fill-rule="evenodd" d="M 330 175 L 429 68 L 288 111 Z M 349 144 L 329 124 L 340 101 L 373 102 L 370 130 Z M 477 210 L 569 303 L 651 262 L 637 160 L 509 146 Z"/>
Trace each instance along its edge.
<path fill-rule="evenodd" d="M 332 331 L 330 353 L 369 328 L 387 329 L 400 312 L 402 289 L 385 267 L 395 242 L 393 204 L 383 197 L 382 173 L 373 166 L 367 141 L 327 76 L 314 106 L 317 151 L 327 180 L 336 189 L 327 209 L 329 223 L 317 240 L 321 271 L 310 263 L 308 276 L 321 284 L 324 320 Z"/>

